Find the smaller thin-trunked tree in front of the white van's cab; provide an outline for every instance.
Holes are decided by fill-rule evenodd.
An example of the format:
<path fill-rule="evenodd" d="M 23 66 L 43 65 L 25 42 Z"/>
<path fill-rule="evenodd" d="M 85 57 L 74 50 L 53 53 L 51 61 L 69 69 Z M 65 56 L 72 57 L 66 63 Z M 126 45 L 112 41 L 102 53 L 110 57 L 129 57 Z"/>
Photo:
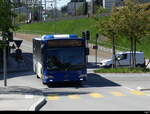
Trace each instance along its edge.
<path fill-rule="evenodd" d="M 100 8 L 94 16 L 96 20 L 95 26 L 99 33 L 106 36 L 112 42 L 113 51 L 113 64 L 112 68 L 116 68 L 116 39 L 118 38 L 118 28 L 120 27 L 118 23 L 119 16 L 112 13 L 108 18 L 101 19 L 99 14 L 107 11 L 106 9 Z"/>

